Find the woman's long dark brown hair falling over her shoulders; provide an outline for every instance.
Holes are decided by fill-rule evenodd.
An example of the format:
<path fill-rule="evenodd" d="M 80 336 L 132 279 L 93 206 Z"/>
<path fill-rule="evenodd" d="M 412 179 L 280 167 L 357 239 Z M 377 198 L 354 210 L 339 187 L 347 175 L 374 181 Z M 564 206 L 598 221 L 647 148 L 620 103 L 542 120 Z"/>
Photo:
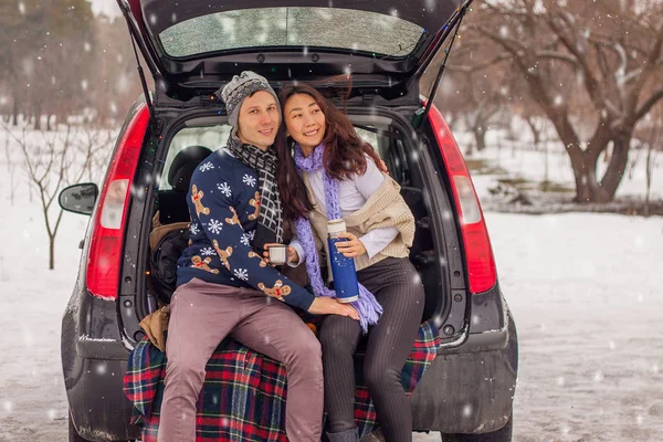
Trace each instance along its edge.
<path fill-rule="evenodd" d="M 296 94 L 311 96 L 325 115 L 323 164 L 330 177 L 343 180 L 350 178 L 352 173 L 364 175 L 366 172 L 365 155 L 368 155 L 376 165 L 380 164 L 378 154 L 357 135 L 350 119 L 315 88 L 305 84 L 290 84 L 282 87 L 278 92 L 282 108 L 287 99 Z M 285 113 L 282 113 L 282 115 L 283 122 L 281 122 L 275 141 L 278 155 L 277 183 L 285 218 L 296 220 L 299 217 L 307 218 L 308 212 L 313 210 L 313 204 L 306 193 L 304 180 L 297 173 L 292 154 L 293 143 L 285 135 Z"/>

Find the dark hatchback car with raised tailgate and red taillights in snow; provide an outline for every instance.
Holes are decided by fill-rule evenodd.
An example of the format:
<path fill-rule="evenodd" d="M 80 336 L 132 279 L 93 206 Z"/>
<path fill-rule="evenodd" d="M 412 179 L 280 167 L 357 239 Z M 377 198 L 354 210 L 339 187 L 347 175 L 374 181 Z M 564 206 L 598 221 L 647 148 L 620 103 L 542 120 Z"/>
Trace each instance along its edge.
<path fill-rule="evenodd" d="M 159 299 L 149 274 L 152 218 L 159 209 L 162 223 L 187 221 L 186 193 L 170 180 L 175 158 L 191 146 L 223 146 L 229 126 L 213 92 L 244 70 L 276 91 L 296 80 L 327 96 L 343 92 L 335 103 L 415 215 L 410 260 L 425 287 L 422 320 L 433 320 L 441 347 L 411 396 L 414 430 L 511 441 L 514 318 L 472 178 L 432 104 L 438 82 L 430 102 L 420 85 L 439 69 L 433 61 L 467 2 L 117 1 L 155 88 L 138 62 L 145 94 L 126 116 L 101 190 L 78 183 L 60 194 L 64 209 L 91 215 L 62 320 L 70 441 L 140 438 L 123 375 L 145 336 L 139 322 Z"/>

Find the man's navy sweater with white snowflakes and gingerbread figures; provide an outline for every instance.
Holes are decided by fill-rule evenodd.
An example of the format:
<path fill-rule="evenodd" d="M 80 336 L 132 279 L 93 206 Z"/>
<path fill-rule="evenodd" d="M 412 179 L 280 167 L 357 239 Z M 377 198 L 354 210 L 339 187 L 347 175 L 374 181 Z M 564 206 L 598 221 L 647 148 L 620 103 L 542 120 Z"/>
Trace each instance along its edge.
<path fill-rule="evenodd" d="M 260 213 L 257 172 L 219 149 L 191 177 L 190 241 L 178 261 L 177 285 L 193 277 L 251 287 L 308 309 L 314 295 L 267 265 L 251 246 Z"/>

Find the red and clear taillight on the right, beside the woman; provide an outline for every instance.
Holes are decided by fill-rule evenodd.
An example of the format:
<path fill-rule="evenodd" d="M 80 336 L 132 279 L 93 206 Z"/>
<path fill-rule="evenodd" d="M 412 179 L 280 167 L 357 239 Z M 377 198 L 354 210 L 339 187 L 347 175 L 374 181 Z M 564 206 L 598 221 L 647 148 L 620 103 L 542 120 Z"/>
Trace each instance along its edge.
<path fill-rule="evenodd" d="M 481 204 L 459 145 L 434 105 L 431 106 L 429 119 L 440 145 L 461 219 L 470 292 L 482 293 L 495 285 L 497 272 Z"/>

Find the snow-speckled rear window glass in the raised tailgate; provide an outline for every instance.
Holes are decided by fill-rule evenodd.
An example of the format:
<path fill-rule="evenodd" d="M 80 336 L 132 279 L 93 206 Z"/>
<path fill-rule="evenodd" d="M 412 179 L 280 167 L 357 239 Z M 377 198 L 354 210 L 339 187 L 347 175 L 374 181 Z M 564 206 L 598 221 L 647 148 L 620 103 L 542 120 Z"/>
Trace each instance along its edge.
<path fill-rule="evenodd" d="M 406 56 L 423 28 L 393 15 L 339 8 L 256 8 L 218 12 L 177 23 L 159 34 L 169 56 L 302 46 Z"/>

